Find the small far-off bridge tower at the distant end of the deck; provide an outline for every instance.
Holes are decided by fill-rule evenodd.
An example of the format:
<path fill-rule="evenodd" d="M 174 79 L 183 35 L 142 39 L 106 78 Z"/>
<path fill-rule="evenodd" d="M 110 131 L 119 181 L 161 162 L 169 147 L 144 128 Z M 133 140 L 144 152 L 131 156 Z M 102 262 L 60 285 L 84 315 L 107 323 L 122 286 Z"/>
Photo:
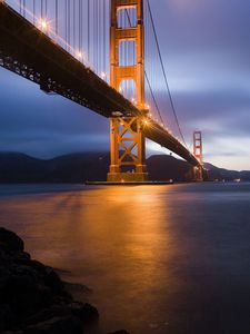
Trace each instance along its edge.
<path fill-rule="evenodd" d="M 202 132 L 193 132 L 193 155 L 200 163 L 200 166 L 193 167 L 194 180 L 203 180 L 203 145 L 202 145 Z"/>

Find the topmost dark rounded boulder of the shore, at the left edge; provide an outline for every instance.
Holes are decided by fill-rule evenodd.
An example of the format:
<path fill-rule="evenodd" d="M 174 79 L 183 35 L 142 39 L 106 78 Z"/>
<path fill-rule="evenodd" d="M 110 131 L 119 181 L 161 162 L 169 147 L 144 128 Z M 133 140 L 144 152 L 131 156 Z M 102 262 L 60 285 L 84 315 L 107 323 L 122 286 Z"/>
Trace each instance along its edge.
<path fill-rule="evenodd" d="M 7 252 L 23 252 L 23 240 L 13 232 L 0 227 L 0 248 Z"/>

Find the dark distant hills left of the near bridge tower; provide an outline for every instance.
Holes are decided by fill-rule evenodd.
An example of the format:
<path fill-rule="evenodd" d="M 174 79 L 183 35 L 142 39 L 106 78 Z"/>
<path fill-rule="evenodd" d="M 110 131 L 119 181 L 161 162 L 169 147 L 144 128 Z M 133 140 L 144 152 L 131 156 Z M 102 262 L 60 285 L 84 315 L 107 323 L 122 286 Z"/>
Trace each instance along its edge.
<path fill-rule="evenodd" d="M 19 153 L 0 153 L 0 183 L 103 180 L 108 168 L 108 154 L 71 154 L 42 160 Z"/>

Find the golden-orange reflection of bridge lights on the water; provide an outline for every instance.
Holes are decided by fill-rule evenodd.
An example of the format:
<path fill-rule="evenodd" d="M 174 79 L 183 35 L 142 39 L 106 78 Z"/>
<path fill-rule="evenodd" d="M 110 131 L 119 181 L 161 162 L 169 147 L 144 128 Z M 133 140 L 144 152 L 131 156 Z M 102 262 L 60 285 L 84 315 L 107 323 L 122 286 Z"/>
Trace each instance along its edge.
<path fill-rule="evenodd" d="M 128 328 L 124 320 L 136 328 L 148 313 L 150 322 L 158 316 L 153 294 L 166 284 L 174 288 L 172 212 L 166 202 L 172 187 L 100 187 L 24 196 L 6 202 L 4 210 L 24 236 L 28 252 L 69 271 L 66 279 L 93 288 L 90 302 L 98 305 L 109 331 Z"/>

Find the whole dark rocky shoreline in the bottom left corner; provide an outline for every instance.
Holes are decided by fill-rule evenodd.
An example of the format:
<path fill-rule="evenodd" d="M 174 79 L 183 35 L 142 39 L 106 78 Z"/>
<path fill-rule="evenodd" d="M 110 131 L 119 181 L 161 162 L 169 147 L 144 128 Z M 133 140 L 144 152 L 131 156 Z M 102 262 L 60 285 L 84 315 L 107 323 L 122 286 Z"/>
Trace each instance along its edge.
<path fill-rule="evenodd" d="M 56 271 L 32 259 L 23 240 L 4 228 L 0 228 L 0 333 L 100 333 L 98 310 L 74 301 Z"/>

